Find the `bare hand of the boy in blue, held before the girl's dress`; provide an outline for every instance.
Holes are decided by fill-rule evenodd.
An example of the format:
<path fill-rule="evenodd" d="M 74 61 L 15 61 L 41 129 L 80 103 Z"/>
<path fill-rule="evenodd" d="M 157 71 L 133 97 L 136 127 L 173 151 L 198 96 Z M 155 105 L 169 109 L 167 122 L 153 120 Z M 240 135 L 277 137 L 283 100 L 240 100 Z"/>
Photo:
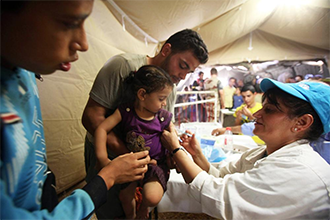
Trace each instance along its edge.
<path fill-rule="evenodd" d="M 98 175 L 103 178 L 108 189 L 114 184 L 141 180 L 150 163 L 149 151 L 120 155 L 105 166 Z"/>

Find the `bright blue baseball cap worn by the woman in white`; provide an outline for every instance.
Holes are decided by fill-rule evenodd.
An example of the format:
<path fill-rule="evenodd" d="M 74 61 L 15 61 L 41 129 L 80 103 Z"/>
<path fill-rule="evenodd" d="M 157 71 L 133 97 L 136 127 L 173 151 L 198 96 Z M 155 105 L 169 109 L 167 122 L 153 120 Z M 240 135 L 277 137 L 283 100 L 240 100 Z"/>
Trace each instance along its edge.
<path fill-rule="evenodd" d="M 272 79 L 263 79 L 260 83 L 263 92 L 274 87 L 309 102 L 320 117 L 324 132 L 330 132 L 330 86 L 315 81 L 281 83 Z"/>

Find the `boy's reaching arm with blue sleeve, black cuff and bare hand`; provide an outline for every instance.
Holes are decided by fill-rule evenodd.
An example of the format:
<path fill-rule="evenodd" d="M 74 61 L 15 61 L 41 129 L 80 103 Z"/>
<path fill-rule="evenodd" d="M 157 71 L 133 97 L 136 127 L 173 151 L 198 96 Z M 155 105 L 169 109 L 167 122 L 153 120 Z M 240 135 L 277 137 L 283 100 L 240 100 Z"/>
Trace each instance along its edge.
<path fill-rule="evenodd" d="M 150 163 L 148 154 L 148 151 L 142 151 L 115 158 L 82 189 L 76 189 L 64 198 L 52 212 L 45 209 L 30 212 L 16 206 L 13 198 L 5 192 L 5 182 L 0 178 L 0 219 L 87 219 L 106 202 L 107 191 L 114 184 L 138 181 L 144 177 L 148 170 L 147 164 Z M 2 167 L 3 162 L 0 160 L 0 168 Z M 33 195 L 30 199 L 33 199 L 32 197 Z"/>

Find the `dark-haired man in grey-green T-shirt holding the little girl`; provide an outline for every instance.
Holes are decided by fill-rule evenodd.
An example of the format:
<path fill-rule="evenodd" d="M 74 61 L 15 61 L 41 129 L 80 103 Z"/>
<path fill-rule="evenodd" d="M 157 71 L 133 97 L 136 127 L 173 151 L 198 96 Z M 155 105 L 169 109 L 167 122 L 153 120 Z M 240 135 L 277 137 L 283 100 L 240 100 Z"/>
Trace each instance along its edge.
<path fill-rule="evenodd" d="M 172 82 L 177 84 L 207 60 L 208 51 L 199 34 L 193 30 L 184 29 L 170 36 L 154 57 L 125 53 L 116 55 L 106 62 L 96 76 L 82 115 L 82 124 L 87 130 L 84 155 L 87 182 L 96 175 L 93 134 L 97 126 L 115 111 L 119 101 L 122 100 L 123 79 L 143 65 L 155 65 L 164 69 L 170 75 Z M 176 86 L 174 85 L 166 105 L 166 109 L 172 113 L 175 99 Z M 107 147 L 110 159 L 128 152 L 123 147 L 121 138 L 116 128 L 108 134 Z M 113 219 L 123 215 L 118 199 L 119 191 L 120 186 L 115 186 L 108 192 L 108 203 L 96 212 L 98 220 Z"/>

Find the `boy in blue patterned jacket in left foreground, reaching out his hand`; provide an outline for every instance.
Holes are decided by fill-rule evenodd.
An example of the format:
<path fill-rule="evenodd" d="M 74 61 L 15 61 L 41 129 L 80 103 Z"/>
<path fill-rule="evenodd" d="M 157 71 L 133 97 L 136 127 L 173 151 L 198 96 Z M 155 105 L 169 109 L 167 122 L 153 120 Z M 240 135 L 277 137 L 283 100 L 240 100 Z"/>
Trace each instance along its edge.
<path fill-rule="evenodd" d="M 122 155 L 58 205 L 47 170 L 36 78 L 88 49 L 93 0 L 0 2 L 0 219 L 87 219 L 114 184 L 143 178 L 148 151 Z M 46 179 L 47 178 L 47 179 Z M 49 203 L 54 201 L 54 203 Z"/>

